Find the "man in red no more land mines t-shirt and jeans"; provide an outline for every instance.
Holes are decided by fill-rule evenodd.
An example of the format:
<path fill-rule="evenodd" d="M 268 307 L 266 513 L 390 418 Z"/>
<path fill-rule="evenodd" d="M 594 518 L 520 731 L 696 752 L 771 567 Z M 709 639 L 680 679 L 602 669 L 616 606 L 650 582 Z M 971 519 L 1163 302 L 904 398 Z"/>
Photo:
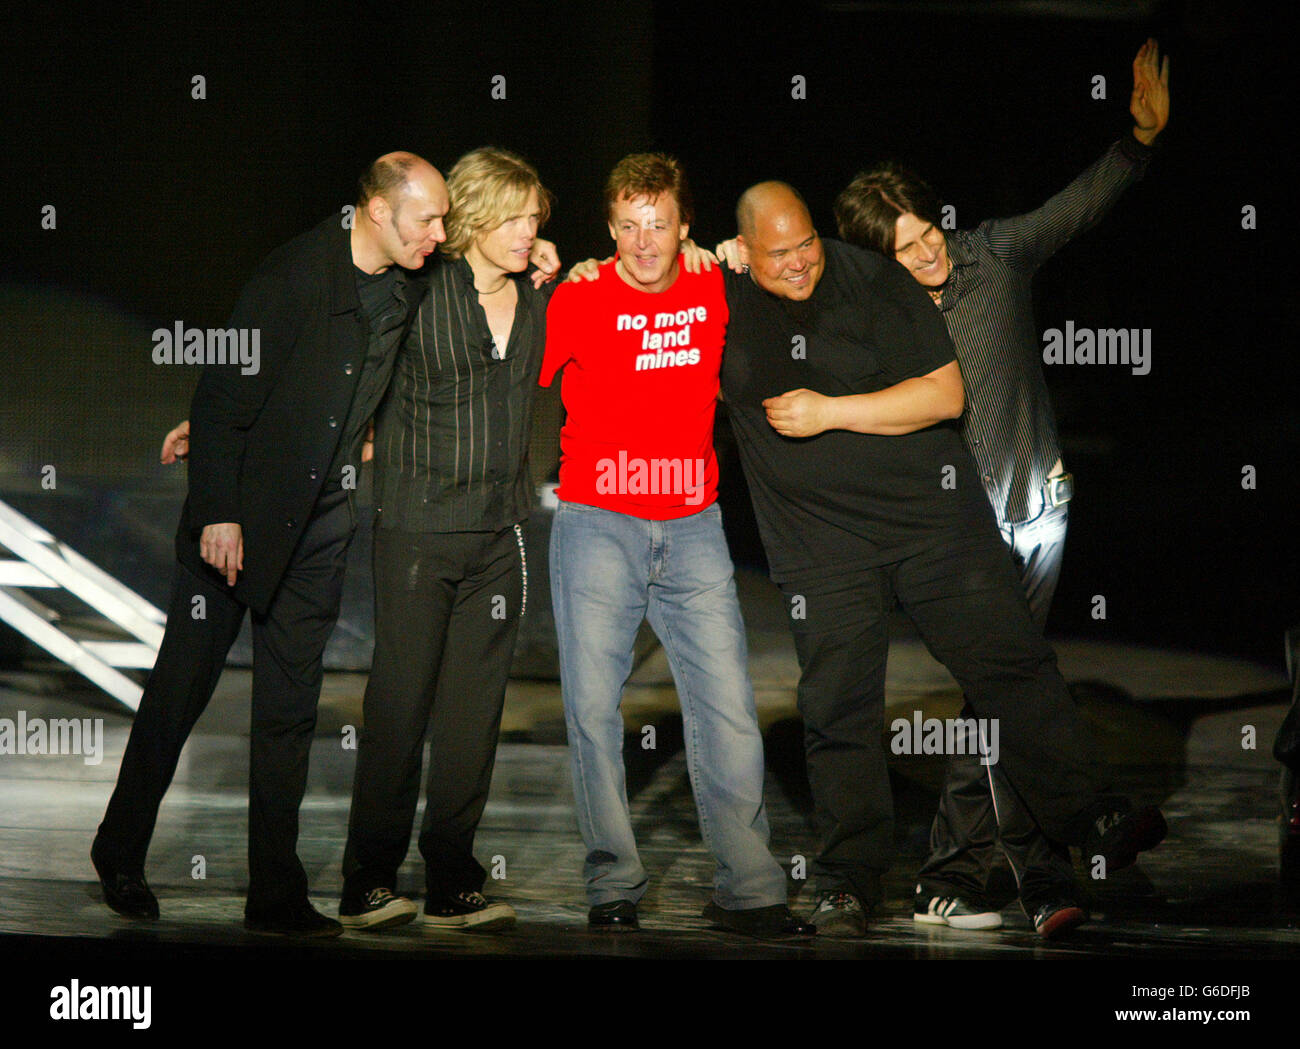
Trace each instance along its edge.
<path fill-rule="evenodd" d="M 637 928 L 647 887 L 628 812 L 619 702 L 644 619 L 672 667 L 686 767 L 718 861 L 705 916 L 737 932 L 806 935 L 767 848 L 763 740 L 745 625 L 718 508 L 714 408 L 727 329 L 716 270 L 680 261 L 692 218 L 680 165 L 624 157 L 606 183 L 618 256 L 563 285 L 541 382 L 564 369 L 551 594 L 588 922 Z"/>

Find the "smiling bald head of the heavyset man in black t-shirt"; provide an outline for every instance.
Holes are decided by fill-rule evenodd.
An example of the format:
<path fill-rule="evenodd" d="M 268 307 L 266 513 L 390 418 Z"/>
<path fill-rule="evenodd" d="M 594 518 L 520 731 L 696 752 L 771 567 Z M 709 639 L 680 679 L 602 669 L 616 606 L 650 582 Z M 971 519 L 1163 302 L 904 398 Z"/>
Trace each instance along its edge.
<path fill-rule="evenodd" d="M 759 182 L 736 204 L 740 257 L 754 282 L 783 299 L 812 294 L 826 255 L 800 191 L 786 182 Z"/>

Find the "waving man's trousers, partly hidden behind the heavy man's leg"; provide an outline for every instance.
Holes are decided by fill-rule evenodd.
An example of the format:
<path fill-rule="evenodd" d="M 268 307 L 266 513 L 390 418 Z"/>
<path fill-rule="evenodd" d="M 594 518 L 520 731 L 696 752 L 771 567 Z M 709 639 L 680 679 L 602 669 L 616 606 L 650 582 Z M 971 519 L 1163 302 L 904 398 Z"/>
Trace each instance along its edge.
<path fill-rule="evenodd" d="M 1028 525 L 1001 526 L 1040 630 L 1061 575 L 1067 515 L 1069 504 L 1045 510 Z M 962 716 L 971 716 L 968 705 Z M 1049 841 L 1039 829 L 1000 767 L 984 766 L 972 751 L 953 755 L 930 833 L 930 858 L 918 875 L 924 894 L 961 896 L 978 906 L 1001 909 L 1008 901 L 994 879 L 998 845 L 1030 916 L 1044 903 L 1079 900 L 1069 848 Z"/>

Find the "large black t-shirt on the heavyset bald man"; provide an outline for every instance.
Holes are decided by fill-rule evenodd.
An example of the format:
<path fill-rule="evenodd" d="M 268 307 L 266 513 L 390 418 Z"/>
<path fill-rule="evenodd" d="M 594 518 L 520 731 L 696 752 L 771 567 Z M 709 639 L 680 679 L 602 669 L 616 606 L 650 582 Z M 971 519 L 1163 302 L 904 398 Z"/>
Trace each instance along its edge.
<path fill-rule="evenodd" d="M 887 564 L 945 530 L 992 519 L 952 422 L 901 435 L 809 438 L 768 425 L 764 398 L 800 387 L 875 393 L 954 360 L 942 317 L 901 265 L 823 243 L 826 269 L 805 302 L 724 270 L 723 396 L 777 582 Z"/>

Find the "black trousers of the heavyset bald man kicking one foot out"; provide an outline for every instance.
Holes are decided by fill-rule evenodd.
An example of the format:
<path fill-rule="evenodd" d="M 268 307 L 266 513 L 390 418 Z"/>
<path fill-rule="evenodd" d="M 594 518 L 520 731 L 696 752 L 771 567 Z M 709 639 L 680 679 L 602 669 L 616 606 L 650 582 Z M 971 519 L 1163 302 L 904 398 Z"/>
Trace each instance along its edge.
<path fill-rule="evenodd" d="M 1097 793 L 1096 745 L 992 525 L 945 534 L 880 568 L 781 589 L 805 598 L 792 629 L 822 832 L 814 864 L 820 890 L 874 902 L 892 859 L 893 803 L 880 741 L 894 595 L 974 714 L 998 720 L 1008 789 L 1054 845 L 1082 842 L 1089 819 L 1113 801 Z"/>

